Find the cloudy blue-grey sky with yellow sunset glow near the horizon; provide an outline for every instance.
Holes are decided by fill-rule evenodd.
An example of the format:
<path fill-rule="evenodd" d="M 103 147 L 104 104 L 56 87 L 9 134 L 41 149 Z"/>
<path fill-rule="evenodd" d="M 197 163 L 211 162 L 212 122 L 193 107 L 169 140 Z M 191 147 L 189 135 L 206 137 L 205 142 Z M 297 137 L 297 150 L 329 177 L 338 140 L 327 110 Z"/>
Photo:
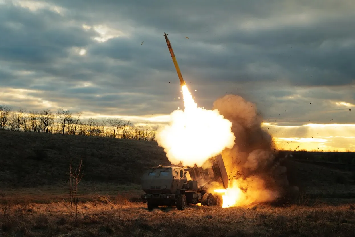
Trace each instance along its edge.
<path fill-rule="evenodd" d="M 0 104 L 164 123 L 183 107 L 166 32 L 198 106 L 240 95 L 283 149 L 355 151 L 354 12 L 352 0 L 0 0 Z"/>

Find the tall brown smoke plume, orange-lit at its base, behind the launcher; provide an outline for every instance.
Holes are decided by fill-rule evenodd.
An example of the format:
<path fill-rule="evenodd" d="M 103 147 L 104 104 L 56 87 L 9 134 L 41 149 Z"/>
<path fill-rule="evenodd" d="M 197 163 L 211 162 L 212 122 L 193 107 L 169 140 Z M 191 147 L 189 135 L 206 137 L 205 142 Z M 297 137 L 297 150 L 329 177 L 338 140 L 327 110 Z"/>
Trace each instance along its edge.
<path fill-rule="evenodd" d="M 235 145 L 224 149 L 222 157 L 230 178 L 229 187 L 243 194 L 239 205 L 273 201 L 288 187 L 286 168 L 278 163 L 272 136 L 261 128 L 262 117 L 254 103 L 237 95 L 225 95 L 213 103 L 232 123 Z M 286 179 L 286 180 L 285 180 Z"/>

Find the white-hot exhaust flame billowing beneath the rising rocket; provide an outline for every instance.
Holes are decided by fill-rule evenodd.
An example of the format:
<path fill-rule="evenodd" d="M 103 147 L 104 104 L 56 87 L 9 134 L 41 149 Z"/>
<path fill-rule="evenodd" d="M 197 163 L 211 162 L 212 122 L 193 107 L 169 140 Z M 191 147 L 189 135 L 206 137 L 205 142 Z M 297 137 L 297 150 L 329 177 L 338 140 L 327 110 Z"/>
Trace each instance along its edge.
<path fill-rule="evenodd" d="M 202 166 L 209 158 L 232 148 L 232 123 L 218 109 L 198 107 L 187 86 L 182 86 L 185 110 L 170 114 L 170 123 L 157 130 L 155 140 L 173 164 Z"/>

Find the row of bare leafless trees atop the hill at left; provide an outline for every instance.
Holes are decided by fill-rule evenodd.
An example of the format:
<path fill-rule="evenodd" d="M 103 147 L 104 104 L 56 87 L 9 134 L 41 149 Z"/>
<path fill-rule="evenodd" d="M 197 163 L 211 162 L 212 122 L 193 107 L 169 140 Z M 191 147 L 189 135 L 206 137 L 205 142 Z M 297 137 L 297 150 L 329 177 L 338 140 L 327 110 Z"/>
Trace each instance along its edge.
<path fill-rule="evenodd" d="M 111 138 L 153 141 L 156 128 L 134 126 L 130 121 L 119 118 L 81 120 L 81 113 L 73 114 L 63 108 L 29 111 L 20 108 L 12 111 L 7 105 L 0 105 L 0 130 L 32 133 L 60 133 L 82 136 L 105 136 Z"/>

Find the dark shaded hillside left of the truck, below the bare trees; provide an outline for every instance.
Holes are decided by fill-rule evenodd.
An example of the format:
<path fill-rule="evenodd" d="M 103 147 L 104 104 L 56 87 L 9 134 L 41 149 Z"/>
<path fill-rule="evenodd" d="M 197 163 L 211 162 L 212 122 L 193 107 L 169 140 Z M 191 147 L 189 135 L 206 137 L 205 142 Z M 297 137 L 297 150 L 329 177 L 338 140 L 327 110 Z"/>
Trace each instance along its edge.
<path fill-rule="evenodd" d="M 66 182 L 70 159 L 84 163 L 83 181 L 140 184 L 142 172 L 169 165 L 156 142 L 0 131 L 0 188 Z"/>

